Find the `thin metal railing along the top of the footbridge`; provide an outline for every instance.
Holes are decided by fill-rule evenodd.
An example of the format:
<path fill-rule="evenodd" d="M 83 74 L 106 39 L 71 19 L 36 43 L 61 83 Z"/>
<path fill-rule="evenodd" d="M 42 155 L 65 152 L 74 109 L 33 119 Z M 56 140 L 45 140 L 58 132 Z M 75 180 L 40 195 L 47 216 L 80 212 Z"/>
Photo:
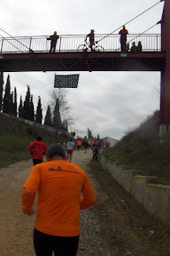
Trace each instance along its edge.
<path fill-rule="evenodd" d="M 47 40 L 47 37 L 49 36 L 1 37 L 0 53 L 29 52 L 29 49 L 34 52 L 49 52 L 50 40 Z M 85 38 L 86 35 L 61 35 L 58 39 L 56 52 L 77 52 L 79 45 L 84 44 Z M 139 41 L 143 45 L 143 52 L 161 51 L 160 34 L 128 35 L 129 51 L 132 43 L 135 42 L 137 45 Z M 95 42 L 104 48 L 104 52 L 120 52 L 120 35 L 95 35 Z"/>

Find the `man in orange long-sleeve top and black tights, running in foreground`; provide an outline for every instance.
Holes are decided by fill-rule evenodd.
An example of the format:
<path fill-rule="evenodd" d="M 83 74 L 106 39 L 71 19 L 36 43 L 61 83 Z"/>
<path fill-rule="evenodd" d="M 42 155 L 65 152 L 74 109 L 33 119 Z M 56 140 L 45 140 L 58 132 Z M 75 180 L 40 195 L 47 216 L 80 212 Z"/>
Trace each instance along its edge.
<path fill-rule="evenodd" d="M 66 161 L 66 151 L 51 145 L 47 162 L 31 170 L 22 194 L 22 212 L 33 215 L 38 191 L 34 229 L 36 256 L 75 256 L 80 235 L 80 210 L 96 204 L 97 199 L 86 173 Z M 82 196 L 81 196 L 82 195 Z M 52 242 L 51 242 L 52 241 Z"/>

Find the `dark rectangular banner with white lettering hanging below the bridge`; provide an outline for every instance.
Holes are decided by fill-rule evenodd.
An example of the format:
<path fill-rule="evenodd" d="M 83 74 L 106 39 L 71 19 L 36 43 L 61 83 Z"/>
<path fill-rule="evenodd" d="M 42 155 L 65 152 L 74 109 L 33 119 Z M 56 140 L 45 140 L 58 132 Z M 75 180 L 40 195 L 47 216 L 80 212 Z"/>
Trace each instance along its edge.
<path fill-rule="evenodd" d="M 54 79 L 54 88 L 77 88 L 79 75 L 56 75 Z"/>

